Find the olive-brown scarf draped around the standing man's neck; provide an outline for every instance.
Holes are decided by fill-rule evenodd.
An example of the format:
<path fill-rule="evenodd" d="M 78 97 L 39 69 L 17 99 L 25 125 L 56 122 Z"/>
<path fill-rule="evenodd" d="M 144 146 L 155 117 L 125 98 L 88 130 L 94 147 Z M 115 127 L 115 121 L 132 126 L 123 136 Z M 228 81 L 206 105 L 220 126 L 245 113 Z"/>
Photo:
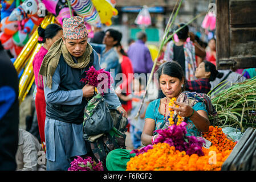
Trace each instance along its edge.
<path fill-rule="evenodd" d="M 87 43 L 86 51 L 80 57 L 78 57 L 78 63 L 75 63 L 72 59 L 71 54 L 68 52 L 63 39 L 58 39 L 47 52 L 43 58 L 43 63 L 40 67 L 38 82 L 42 81 L 42 76 L 44 76 L 45 83 L 44 86 L 48 86 L 51 89 L 52 86 L 52 76 L 59 64 L 60 55 L 63 55 L 64 61 L 71 67 L 76 69 L 86 68 L 90 62 L 90 55 L 92 53 L 92 46 Z"/>

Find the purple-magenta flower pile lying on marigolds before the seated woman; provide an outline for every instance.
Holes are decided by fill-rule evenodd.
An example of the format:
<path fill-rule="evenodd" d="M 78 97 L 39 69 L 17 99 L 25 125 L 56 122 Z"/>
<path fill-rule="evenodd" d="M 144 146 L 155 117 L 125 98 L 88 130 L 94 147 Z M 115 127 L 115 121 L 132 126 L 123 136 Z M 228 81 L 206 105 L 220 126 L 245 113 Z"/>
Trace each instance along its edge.
<path fill-rule="evenodd" d="M 186 123 L 182 122 L 180 125 L 172 125 L 167 129 L 156 130 L 159 136 L 154 140 L 153 144 L 168 143 L 170 146 L 174 146 L 178 151 L 185 151 L 186 154 L 197 154 L 203 156 L 202 145 L 205 143 L 201 137 L 186 136 Z M 136 156 L 147 152 L 153 148 L 152 144 L 141 148 L 140 150 L 133 150 L 131 153 L 135 153 Z"/>

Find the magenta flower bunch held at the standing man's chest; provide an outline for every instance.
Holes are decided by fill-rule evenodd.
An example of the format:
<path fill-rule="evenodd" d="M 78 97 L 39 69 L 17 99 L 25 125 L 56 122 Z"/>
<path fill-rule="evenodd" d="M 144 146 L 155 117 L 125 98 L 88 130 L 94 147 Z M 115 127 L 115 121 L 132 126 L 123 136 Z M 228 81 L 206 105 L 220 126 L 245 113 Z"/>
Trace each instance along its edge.
<path fill-rule="evenodd" d="M 113 83 L 113 78 L 110 72 L 104 71 L 104 69 L 96 70 L 94 66 L 91 66 L 88 71 L 86 71 L 86 77 L 82 78 L 80 81 L 84 84 L 89 84 L 95 86 L 101 94 L 106 92 Z"/>

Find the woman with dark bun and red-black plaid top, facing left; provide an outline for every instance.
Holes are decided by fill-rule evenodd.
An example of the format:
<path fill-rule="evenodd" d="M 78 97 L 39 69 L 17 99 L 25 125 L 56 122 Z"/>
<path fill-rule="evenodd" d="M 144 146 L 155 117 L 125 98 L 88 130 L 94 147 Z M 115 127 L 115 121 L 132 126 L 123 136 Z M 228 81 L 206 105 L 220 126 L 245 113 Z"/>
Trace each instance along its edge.
<path fill-rule="evenodd" d="M 196 69 L 197 80 L 186 80 L 185 88 L 189 92 L 208 93 L 210 92 L 210 81 L 221 78 L 223 73 L 216 70 L 216 66 L 209 61 L 202 61 Z"/>

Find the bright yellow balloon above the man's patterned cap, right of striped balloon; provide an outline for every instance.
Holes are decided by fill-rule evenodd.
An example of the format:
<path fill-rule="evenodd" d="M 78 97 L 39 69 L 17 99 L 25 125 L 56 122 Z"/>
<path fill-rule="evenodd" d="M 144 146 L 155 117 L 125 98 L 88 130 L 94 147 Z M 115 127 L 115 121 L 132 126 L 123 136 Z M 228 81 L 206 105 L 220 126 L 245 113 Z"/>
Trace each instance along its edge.
<path fill-rule="evenodd" d="M 104 23 L 107 26 L 111 26 L 111 18 L 113 15 L 117 15 L 118 11 L 105 0 L 92 0 L 92 3 L 100 15 L 101 23 Z"/>

